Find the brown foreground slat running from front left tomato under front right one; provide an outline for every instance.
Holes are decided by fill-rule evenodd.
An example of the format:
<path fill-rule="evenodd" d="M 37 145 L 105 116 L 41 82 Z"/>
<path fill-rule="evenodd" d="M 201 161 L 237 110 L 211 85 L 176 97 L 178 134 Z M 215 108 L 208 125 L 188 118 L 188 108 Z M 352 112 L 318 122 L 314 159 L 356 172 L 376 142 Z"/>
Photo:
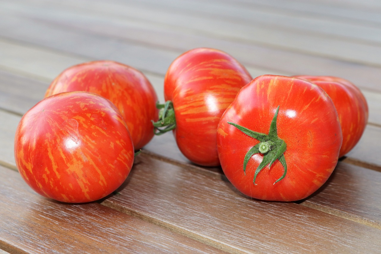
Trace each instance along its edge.
<path fill-rule="evenodd" d="M 137 158 L 120 194 L 102 204 L 227 250 L 366 253 L 380 248 L 379 229 L 295 203 L 251 200 L 218 173 L 146 154 Z"/>

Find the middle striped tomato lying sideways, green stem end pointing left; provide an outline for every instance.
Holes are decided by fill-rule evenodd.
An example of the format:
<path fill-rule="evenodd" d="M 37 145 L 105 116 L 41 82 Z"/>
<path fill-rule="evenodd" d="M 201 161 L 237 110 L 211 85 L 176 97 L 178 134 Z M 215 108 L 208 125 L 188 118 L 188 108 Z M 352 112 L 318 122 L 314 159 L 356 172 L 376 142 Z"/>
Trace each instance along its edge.
<path fill-rule="evenodd" d="M 183 53 L 166 72 L 164 97 L 171 107 L 154 124 L 158 134 L 173 129 L 186 158 L 202 166 L 219 166 L 218 121 L 251 79 L 242 64 L 222 51 L 196 48 Z"/>

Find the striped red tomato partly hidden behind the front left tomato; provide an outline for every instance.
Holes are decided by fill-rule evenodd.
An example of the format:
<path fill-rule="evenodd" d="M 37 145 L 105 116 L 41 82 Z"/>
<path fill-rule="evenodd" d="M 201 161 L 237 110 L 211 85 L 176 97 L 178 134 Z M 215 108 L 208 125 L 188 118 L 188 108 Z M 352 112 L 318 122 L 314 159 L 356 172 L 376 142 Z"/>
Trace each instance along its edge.
<path fill-rule="evenodd" d="M 50 84 L 45 97 L 62 92 L 97 93 L 117 106 L 122 113 L 135 150 L 154 136 L 152 121 L 157 121 L 157 95 L 140 71 L 114 61 L 92 61 L 71 66 Z"/>

